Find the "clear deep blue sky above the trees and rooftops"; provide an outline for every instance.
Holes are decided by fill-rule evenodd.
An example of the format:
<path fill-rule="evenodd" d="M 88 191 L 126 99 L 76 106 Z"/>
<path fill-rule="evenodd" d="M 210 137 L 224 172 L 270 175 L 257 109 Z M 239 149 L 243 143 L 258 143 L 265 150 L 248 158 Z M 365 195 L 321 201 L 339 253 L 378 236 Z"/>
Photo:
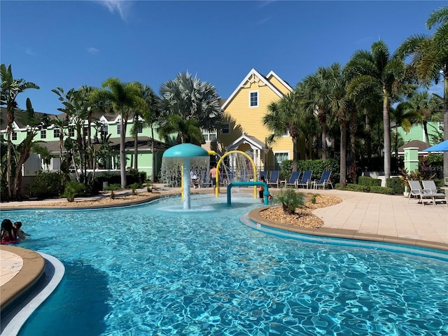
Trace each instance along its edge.
<path fill-rule="evenodd" d="M 1 63 L 36 83 L 18 103 L 58 114 L 51 92 L 111 77 L 159 92 L 190 72 L 228 98 L 252 68 L 292 87 L 379 38 L 391 50 L 447 1 L 0 1 Z M 432 90 L 442 92 L 442 85 Z"/>

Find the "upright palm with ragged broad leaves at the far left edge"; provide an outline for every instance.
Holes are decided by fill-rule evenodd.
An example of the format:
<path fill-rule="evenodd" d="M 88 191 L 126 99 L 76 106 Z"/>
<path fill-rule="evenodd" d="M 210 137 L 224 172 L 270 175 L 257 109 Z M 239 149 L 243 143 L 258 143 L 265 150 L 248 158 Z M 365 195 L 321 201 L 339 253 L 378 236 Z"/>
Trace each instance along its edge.
<path fill-rule="evenodd" d="M 6 106 L 6 139 L 7 139 L 7 156 L 6 156 L 6 184 L 8 185 L 8 197 L 12 196 L 11 183 L 11 134 L 13 134 L 14 112 L 18 109 L 15 101 L 18 94 L 27 89 L 38 89 L 39 87 L 25 79 L 14 79 L 11 65 L 6 68 L 5 64 L 0 65 L 1 75 L 1 92 L 0 106 Z"/>

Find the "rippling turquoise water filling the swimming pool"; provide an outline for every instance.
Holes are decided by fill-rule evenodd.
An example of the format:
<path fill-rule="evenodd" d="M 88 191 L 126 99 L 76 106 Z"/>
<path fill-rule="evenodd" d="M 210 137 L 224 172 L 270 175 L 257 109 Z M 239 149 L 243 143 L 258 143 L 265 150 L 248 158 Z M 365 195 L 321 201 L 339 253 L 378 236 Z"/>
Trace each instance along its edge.
<path fill-rule="evenodd" d="M 448 335 L 447 254 L 268 235 L 244 195 L 191 204 L 3 212 L 66 267 L 20 335 Z"/>

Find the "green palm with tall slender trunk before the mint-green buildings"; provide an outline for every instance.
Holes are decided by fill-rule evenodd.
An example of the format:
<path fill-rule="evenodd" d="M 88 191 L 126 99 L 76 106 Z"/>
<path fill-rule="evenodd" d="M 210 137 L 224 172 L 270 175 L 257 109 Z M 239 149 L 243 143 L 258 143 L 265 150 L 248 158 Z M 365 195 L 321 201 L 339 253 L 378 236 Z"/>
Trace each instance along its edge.
<path fill-rule="evenodd" d="M 120 179 L 122 188 L 126 188 L 126 152 L 125 137 L 130 109 L 144 105 L 141 99 L 141 85 L 137 82 L 122 83 L 118 78 L 109 78 L 102 83 L 103 88 L 94 90 L 90 97 L 93 102 L 110 104 L 120 113 Z"/>

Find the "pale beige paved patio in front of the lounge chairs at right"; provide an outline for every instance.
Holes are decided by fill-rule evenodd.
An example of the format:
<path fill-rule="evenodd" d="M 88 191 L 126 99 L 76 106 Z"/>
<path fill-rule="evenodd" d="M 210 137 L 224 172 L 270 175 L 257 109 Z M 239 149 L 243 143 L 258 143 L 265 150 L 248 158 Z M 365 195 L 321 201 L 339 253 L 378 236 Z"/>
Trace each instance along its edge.
<path fill-rule="evenodd" d="M 318 190 L 343 202 L 316 209 L 325 228 L 356 230 L 360 233 L 410 238 L 448 244 L 448 207 L 444 203 L 417 204 L 399 195 Z"/>

